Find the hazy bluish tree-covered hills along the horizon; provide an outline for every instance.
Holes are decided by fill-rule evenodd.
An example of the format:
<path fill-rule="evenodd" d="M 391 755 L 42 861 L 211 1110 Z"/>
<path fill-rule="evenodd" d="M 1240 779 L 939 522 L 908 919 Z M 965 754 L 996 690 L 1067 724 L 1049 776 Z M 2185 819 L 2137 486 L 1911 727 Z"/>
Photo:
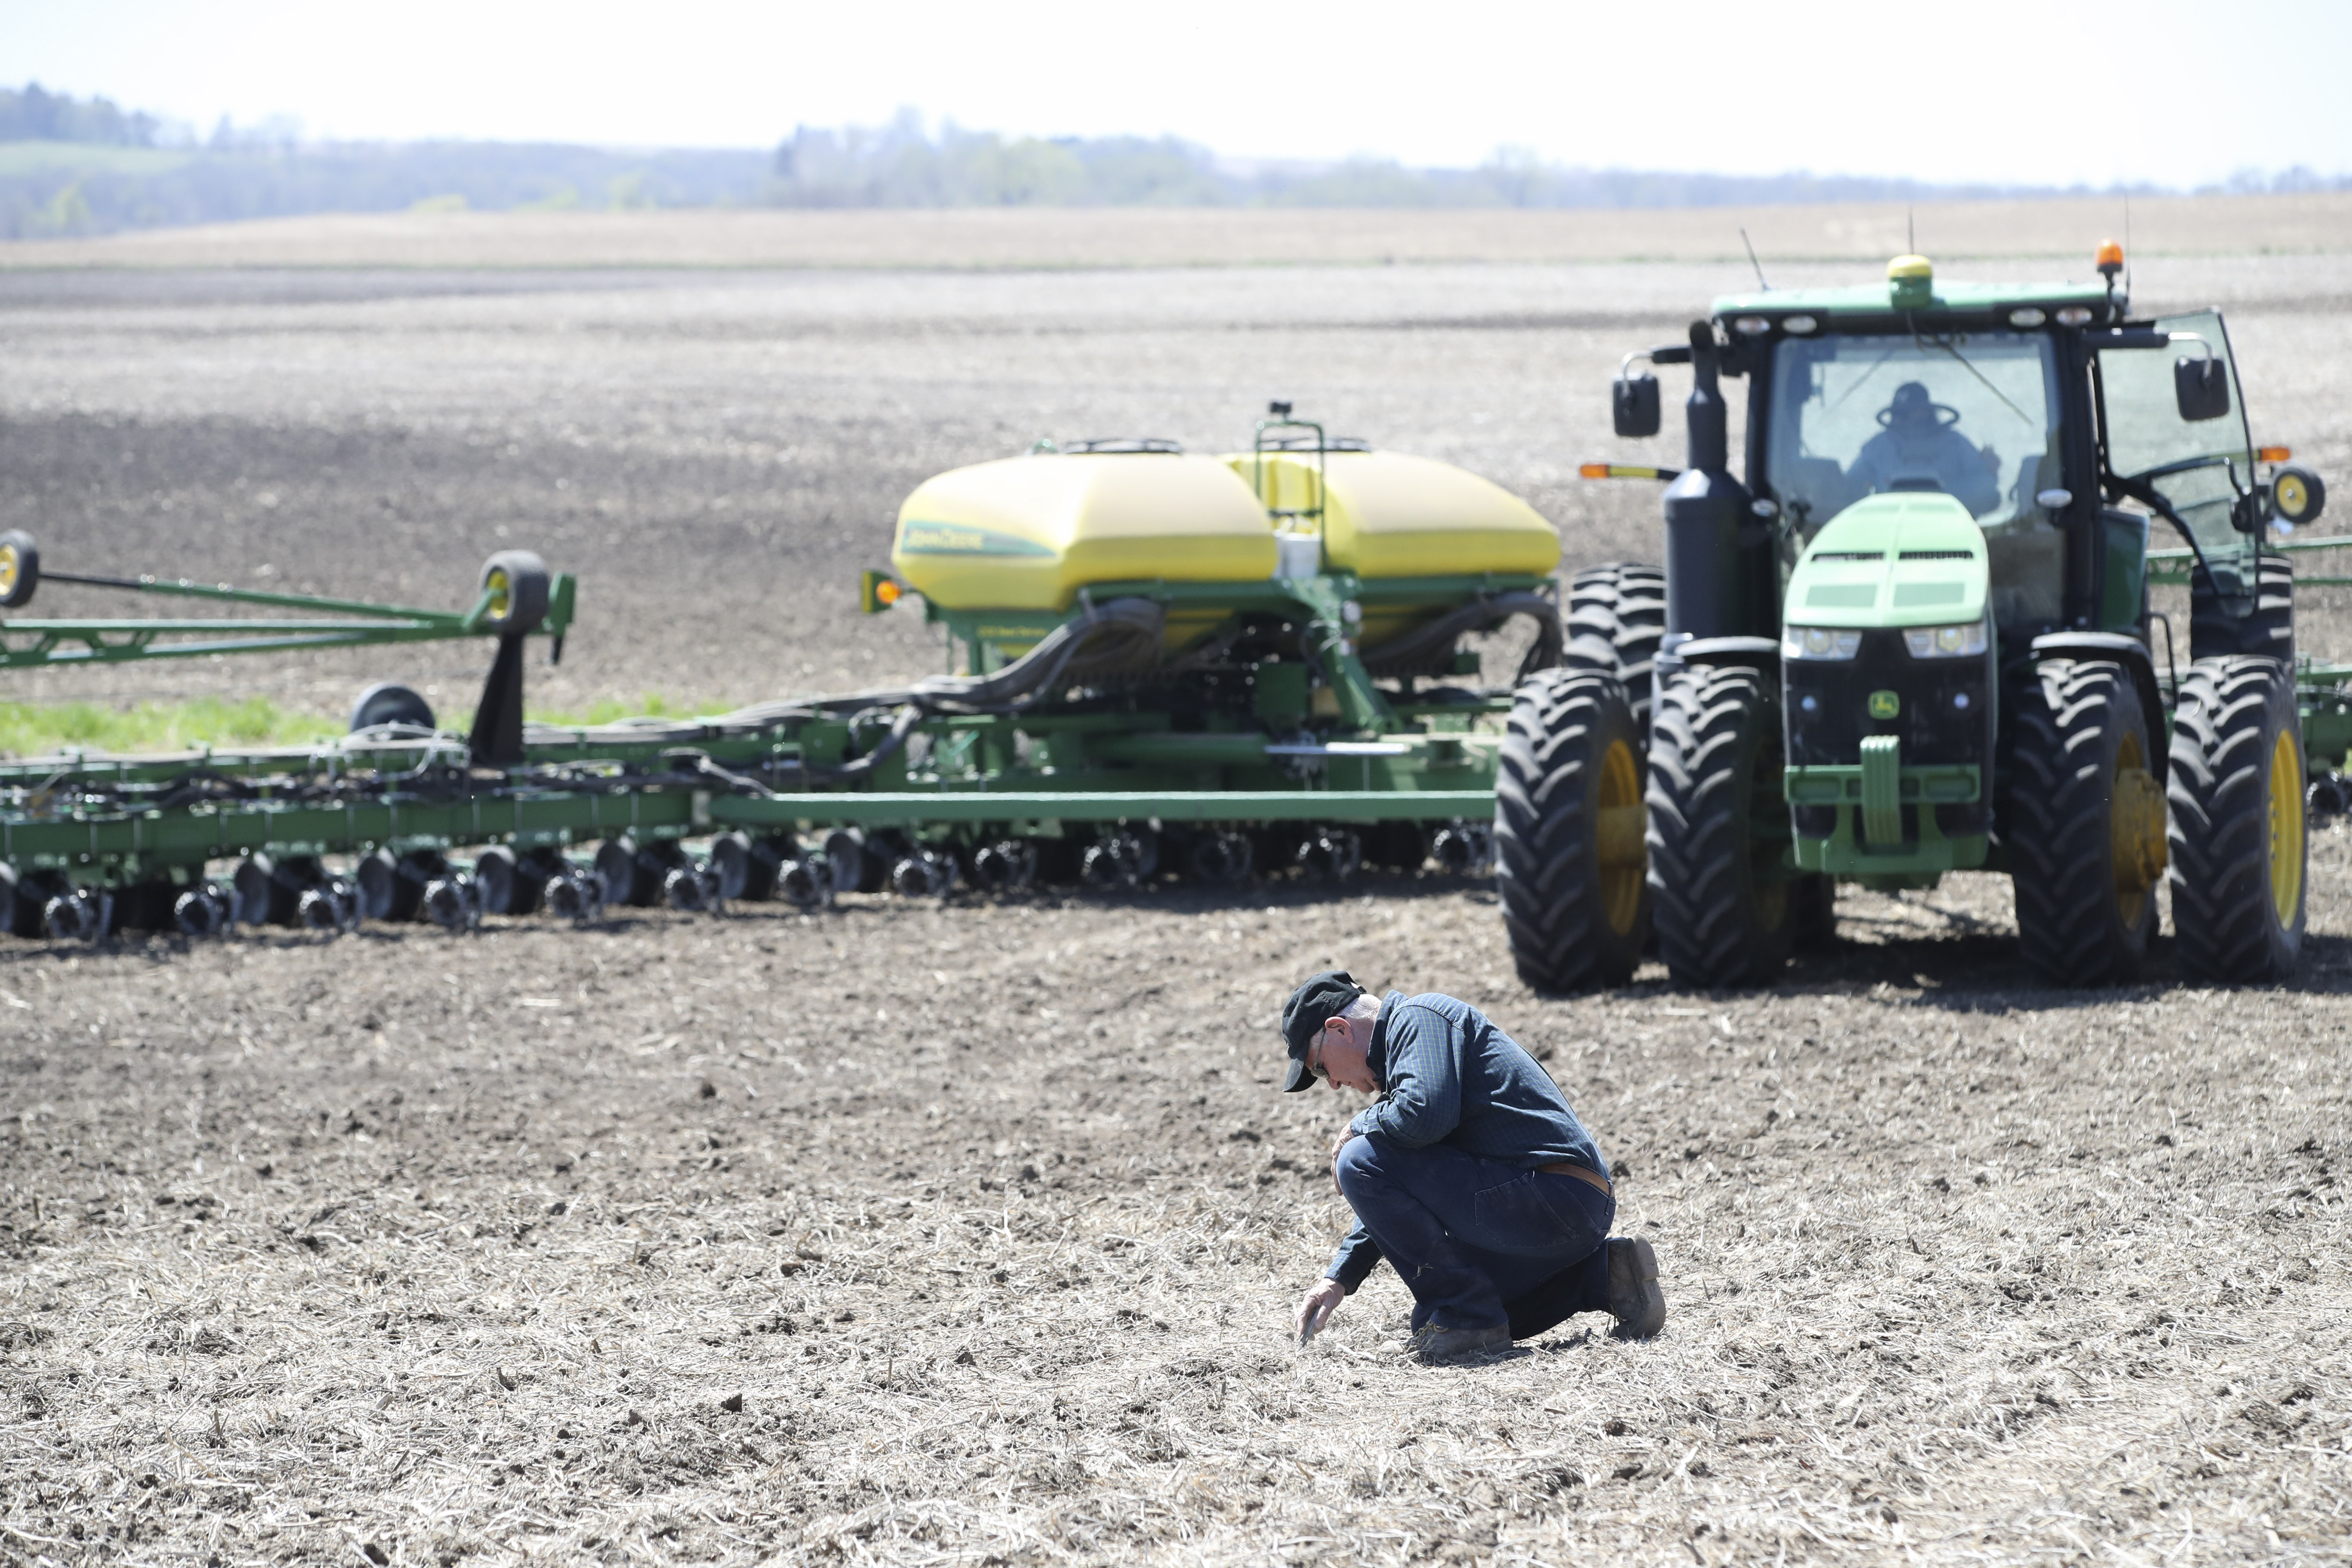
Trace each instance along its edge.
<path fill-rule="evenodd" d="M 2230 190 L 2343 190 L 2291 169 Z M 2157 188 L 2136 188 L 2157 195 Z M 1000 136 L 903 113 L 793 132 L 774 150 L 567 143 L 306 143 L 289 127 L 205 139 L 108 99 L 0 89 L 0 237 L 103 235 L 327 212 L 633 207 L 1776 207 L 2084 195 L 1863 176 L 1576 169 L 1503 148 L 1475 169 L 1388 160 L 1237 165 L 1178 139 Z"/>

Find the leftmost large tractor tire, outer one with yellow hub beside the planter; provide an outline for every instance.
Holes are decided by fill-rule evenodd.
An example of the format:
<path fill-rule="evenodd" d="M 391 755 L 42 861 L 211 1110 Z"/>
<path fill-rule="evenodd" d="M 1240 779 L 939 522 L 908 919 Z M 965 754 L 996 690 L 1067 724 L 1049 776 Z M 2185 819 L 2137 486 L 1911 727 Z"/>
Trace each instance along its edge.
<path fill-rule="evenodd" d="M 1494 882 L 1510 957 L 1538 992 L 1623 985 L 1649 940 L 1642 731 L 1625 684 L 1519 684 L 1494 780 Z"/>

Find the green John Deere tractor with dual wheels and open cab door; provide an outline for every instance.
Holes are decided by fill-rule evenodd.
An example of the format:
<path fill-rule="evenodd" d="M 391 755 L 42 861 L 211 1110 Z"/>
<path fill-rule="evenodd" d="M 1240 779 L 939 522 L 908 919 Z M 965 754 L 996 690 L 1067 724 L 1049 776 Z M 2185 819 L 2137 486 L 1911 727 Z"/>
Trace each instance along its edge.
<path fill-rule="evenodd" d="M 2340 795 L 2352 733 L 2345 670 L 2305 665 L 2298 703 L 2296 545 L 2265 534 L 2324 487 L 2249 440 L 2218 310 L 2140 320 L 2117 247 L 2098 270 L 1940 284 L 1900 256 L 1628 355 L 1625 437 L 1658 433 L 1635 362 L 1691 367 L 1689 465 L 1585 468 L 1668 480 L 1665 569 L 1581 574 L 1569 668 L 1517 696 L 1496 853 L 1522 978 L 1623 983 L 1656 943 L 1679 985 L 1769 985 L 1837 884 L 1957 870 L 2013 879 L 2051 983 L 2131 980 L 2166 875 L 2183 971 L 2293 971 L 2307 780 Z M 2185 548 L 2150 550 L 2157 520 Z"/>

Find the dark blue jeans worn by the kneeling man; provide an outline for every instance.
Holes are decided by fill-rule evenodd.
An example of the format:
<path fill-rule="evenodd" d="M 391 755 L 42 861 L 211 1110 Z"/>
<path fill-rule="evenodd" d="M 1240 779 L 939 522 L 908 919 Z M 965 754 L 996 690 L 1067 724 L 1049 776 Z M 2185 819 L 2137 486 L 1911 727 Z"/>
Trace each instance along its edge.
<path fill-rule="evenodd" d="M 1414 1293 L 1414 1328 L 1510 1324 L 1524 1340 L 1609 1309 L 1616 1199 L 1585 1180 L 1374 1133 L 1341 1150 L 1338 1190 Z"/>

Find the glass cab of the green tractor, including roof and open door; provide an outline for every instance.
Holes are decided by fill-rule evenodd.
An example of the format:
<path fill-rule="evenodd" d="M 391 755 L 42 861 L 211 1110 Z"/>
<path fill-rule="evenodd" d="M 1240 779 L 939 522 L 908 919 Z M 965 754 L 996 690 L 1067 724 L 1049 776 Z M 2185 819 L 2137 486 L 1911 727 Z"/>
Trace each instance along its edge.
<path fill-rule="evenodd" d="M 1748 487 L 1776 520 L 1783 588 L 1853 503 L 1943 494 L 1985 534 L 2004 644 L 2145 642 L 2150 520 L 2251 614 L 2267 454 L 2227 327 L 2218 310 L 2131 320 L 2119 261 L 2103 252 L 2096 284 L 1938 284 L 1898 256 L 1886 287 L 1715 301 L 1722 371 L 1750 376 Z"/>

